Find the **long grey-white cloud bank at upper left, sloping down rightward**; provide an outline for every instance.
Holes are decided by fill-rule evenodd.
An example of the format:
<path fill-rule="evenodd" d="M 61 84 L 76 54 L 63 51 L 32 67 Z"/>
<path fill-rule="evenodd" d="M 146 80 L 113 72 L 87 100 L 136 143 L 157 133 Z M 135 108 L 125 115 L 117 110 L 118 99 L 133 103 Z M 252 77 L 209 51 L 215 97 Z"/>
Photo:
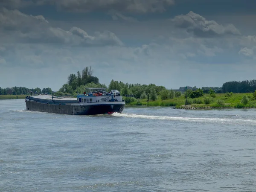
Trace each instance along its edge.
<path fill-rule="evenodd" d="M 0 32 L 8 41 L 23 43 L 67 44 L 70 46 L 108 46 L 123 43 L 113 32 L 95 32 L 72 27 L 69 31 L 53 27 L 42 15 L 32 16 L 18 10 L 0 11 Z M 7 40 L 6 40 L 7 41 Z"/>

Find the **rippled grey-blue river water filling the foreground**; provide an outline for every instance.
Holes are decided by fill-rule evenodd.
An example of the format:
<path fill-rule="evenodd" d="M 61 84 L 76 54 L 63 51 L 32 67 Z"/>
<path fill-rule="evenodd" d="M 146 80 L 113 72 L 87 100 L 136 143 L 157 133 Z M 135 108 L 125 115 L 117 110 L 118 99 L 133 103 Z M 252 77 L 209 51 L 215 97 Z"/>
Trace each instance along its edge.
<path fill-rule="evenodd" d="M 0 100 L 1 192 L 256 191 L 256 110 L 25 108 Z"/>

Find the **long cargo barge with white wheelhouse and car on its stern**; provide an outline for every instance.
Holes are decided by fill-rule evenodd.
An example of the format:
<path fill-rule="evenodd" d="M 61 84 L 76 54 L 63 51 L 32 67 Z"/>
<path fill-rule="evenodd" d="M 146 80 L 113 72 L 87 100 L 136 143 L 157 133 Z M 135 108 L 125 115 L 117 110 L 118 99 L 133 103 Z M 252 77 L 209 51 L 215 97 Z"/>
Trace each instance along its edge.
<path fill-rule="evenodd" d="M 87 88 L 77 96 L 37 95 L 26 96 L 26 110 L 68 115 L 96 115 L 122 113 L 125 102 L 118 90 Z"/>

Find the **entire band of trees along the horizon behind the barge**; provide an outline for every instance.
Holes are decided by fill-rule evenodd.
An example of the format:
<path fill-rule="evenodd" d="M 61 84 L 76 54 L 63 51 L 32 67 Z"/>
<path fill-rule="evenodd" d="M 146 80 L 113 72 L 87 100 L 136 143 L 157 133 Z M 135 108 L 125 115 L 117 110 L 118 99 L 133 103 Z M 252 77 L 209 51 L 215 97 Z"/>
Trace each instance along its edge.
<path fill-rule="evenodd" d="M 55 95 L 76 95 L 84 93 L 86 87 L 105 87 L 107 90 L 119 90 L 122 96 L 134 97 L 136 99 L 146 99 L 151 98 L 154 100 L 154 93 L 160 95 L 163 98 L 173 98 L 173 96 L 179 96 L 179 90 L 184 92 L 185 87 L 180 87 L 179 90 L 171 90 L 169 92 L 166 91 L 164 86 L 157 86 L 155 84 L 128 84 L 123 83 L 122 81 L 112 81 L 107 87 L 105 84 L 99 83 L 99 78 L 93 76 L 93 70 L 91 67 L 85 67 L 81 72 L 77 72 L 76 74 L 70 74 L 67 78 L 67 83 L 63 84 L 63 86 L 58 90 L 58 92 L 54 92 Z M 190 87 L 187 86 L 187 96 L 191 98 L 198 97 L 201 94 L 205 93 L 252 93 L 256 90 L 256 80 L 246 80 L 246 81 L 229 81 L 222 85 L 222 87 L 201 87 L 197 88 L 196 86 Z M 26 88 L 26 87 L 12 87 L 12 88 L 1 88 L 0 87 L 0 95 L 26 95 L 26 94 L 52 94 L 53 91 L 51 88 Z M 146 97 L 146 98 L 145 98 Z"/>

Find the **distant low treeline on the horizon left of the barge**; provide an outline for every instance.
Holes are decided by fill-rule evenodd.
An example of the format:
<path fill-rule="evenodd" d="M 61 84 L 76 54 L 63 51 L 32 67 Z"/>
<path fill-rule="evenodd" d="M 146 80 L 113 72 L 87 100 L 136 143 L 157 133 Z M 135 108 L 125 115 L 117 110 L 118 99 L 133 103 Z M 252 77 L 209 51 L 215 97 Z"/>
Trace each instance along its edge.
<path fill-rule="evenodd" d="M 30 94 L 52 94 L 52 89 L 51 88 L 43 88 L 41 90 L 40 88 L 26 88 L 26 87 L 6 87 L 2 88 L 0 87 L 0 95 L 30 95 Z"/>

